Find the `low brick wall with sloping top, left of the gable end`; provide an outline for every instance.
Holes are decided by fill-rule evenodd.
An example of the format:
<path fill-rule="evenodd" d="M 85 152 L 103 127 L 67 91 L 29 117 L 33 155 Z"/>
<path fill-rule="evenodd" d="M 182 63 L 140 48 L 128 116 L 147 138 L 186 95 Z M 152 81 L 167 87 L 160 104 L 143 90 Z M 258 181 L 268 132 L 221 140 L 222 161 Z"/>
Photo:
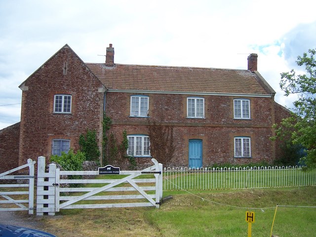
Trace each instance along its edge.
<path fill-rule="evenodd" d="M 20 123 L 0 130 L 0 173 L 19 166 Z"/>

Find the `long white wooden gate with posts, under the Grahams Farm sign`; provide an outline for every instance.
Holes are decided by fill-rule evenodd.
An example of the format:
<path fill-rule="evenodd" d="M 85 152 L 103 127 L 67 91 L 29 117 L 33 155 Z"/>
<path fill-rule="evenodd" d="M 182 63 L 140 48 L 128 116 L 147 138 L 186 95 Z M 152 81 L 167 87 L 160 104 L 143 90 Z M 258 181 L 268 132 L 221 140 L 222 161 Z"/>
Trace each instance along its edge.
<path fill-rule="evenodd" d="M 39 157 L 37 215 L 54 215 L 60 209 L 72 208 L 158 208 L 162 199 L 162 164 L 154 158 L 152 161 L 153 166 L 140 171 L 98 176 L 98 171 L 60 171 L 55 164 L 50 164 L 49 172 L 45 173 L 45 158 Z M 153 178 L 137 178 L 143 174 Z M 95 178 L 69 179 L 70 175 L 92 175 Z M 72 187 L 76 184 L 84 187 Z"/>

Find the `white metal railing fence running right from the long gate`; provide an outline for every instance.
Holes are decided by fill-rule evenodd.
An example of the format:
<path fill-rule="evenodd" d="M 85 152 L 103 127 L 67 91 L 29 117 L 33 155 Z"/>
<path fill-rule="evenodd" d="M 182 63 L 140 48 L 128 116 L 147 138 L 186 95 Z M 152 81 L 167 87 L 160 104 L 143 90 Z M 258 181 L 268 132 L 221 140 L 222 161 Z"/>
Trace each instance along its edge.
<path fill-rule="evenodd" d="M 163 170 L 163 190 L 260 189 L 316 185 L 316 170 L 301 166 L 178 168 Z"/>

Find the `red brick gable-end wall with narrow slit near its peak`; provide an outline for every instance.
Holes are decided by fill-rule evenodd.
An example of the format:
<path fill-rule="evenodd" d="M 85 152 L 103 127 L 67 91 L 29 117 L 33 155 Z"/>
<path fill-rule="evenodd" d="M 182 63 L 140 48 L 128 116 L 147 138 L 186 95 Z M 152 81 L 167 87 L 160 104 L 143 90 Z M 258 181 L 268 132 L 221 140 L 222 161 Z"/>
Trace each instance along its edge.
<path fill-rule="evenodd" d="M 71 139 L 71 148 L 77 150 L 79 135 L 88 128 L 97 130 L 101 146 L 104 93 L 98 88 L 103 85 L 71 49 L 57 52 L 24 86 L 28 90 L 22 92 L 20 164 L 28 158 L 49 158 L 52 139 Z M 55 94 L 72 95 L 71 114 L 53 113 Z"/>

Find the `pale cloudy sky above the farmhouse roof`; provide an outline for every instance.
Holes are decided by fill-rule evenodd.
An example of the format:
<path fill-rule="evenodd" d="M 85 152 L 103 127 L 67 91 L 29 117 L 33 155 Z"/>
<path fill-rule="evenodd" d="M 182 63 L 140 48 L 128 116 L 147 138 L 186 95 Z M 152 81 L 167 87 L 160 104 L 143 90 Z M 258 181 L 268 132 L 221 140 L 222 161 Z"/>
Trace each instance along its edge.
<path fill-rule="evenodd" d="M 292 108 L 280 73 L 316 48 L 314 0 L 0 0 L 0 129 L 20 121 L 19 85 L 66 43 L 86 63 L 247 69 Z M 39 115 L 40 116 L 40 115 Z"/>

